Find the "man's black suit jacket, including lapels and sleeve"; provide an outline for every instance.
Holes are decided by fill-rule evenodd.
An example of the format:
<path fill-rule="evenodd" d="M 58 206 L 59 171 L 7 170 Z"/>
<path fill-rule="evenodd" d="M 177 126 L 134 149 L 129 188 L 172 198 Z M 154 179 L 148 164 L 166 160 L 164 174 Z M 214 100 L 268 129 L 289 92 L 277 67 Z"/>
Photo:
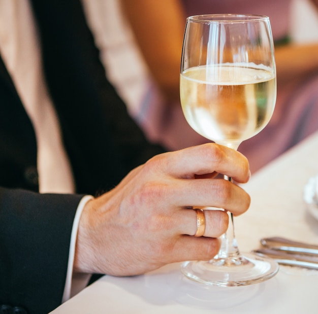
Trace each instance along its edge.
<path fill-rule="evenodd" d="M 61 302 L 81 194 L 113 188 L 164 150 L 147 142 L 107 81 L 79 0 L 31 4 L 78 193 L 37 193 L 35 132 L 0 60 L 0 304 L 40 314 Z"/>

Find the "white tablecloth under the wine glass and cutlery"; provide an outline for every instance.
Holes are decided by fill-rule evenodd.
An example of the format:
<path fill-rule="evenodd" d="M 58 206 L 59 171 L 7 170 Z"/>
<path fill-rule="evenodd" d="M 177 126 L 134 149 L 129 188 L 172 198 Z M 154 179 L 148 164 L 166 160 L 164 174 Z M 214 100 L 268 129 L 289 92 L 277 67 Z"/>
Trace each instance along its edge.
<path fill-rule="evenodd" d="M 256 173 L 244 185 L 250 209 L 235 219 L 241 252 L 260 238 L 318 243 L 318 221 L 306 211 L 303 188 L 318 173 L 318 133 Z M 270 280 L 244 287 L 189 281 L 179 264 L 136 277 L 104 276 L 52 313 L 317 313 L 318 271 L 280 266 Z"/>

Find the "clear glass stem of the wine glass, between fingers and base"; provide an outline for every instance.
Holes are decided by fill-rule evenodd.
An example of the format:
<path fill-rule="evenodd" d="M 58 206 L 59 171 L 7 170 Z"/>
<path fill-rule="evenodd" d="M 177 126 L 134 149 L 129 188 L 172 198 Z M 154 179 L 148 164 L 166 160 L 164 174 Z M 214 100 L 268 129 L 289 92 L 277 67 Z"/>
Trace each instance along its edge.
<path fill-rule="evenodd" d="M 229 180 L 230 182 L 233 182 L 233 179 L 224 176 L 225 180 Z M 229 211 L 226 211 L 229 215 L 229 227 L 226 233 L 221 235 L 221 247 L 217 254 L 217 258 L 220 259 L 233 259 L 240 255 L 239 249 L 237 246 L 237 241 L 235 238 L 234 233 L 234 220 L 233 220 L 233 214 Z"/>

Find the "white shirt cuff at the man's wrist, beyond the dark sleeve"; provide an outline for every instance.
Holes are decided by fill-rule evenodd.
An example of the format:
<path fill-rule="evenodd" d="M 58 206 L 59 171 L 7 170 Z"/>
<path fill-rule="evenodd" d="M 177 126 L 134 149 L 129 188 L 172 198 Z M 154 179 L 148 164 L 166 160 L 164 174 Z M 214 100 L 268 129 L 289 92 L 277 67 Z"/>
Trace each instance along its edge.
<path fill-rule="evenodd" d="M 86 205 L 86 203 L 91 199 L 93 199 L 91 195 L 85 195 L 77 206 L 77 210 L 76 210 L 76 214 L 75 214 L 74 222 L 73 222 L 73 227 L 72 227 L 69 263 L 68 263 L 64 293 L 62 297 L 62 303 L 69 300 L 72 296 L 74 296 L 75 294 L 83 290 L 86 287 L 89 281 L 89 278 L 91 276 L 91 274 L 87 274 L 87 273 L 73 274 L 73 264 L 74 264 L 75 245 L 76 245 L 78 225 L 79 225 L 83 208 Z"/>

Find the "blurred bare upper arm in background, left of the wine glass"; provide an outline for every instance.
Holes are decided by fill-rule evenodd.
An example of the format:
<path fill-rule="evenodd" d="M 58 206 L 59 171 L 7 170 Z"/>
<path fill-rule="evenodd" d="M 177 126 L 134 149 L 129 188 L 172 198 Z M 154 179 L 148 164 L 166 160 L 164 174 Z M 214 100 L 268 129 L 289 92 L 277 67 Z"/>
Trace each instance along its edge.
<path fill-rule="evenodd" d="M 185 14 L 178 0 L 121 0 L 149 69 L 169 100 L 179 100 Z"/>

